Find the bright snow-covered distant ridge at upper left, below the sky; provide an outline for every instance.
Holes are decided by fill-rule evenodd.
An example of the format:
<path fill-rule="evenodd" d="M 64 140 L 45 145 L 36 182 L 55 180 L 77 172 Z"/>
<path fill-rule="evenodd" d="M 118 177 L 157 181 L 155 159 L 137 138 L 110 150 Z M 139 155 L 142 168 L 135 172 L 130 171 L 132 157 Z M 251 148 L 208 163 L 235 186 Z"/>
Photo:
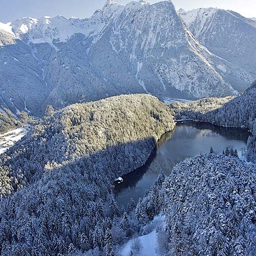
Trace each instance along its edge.
<path fill-rule="evenodd" d="M 95 12 L 90 18 L 66 18 L 63 16 L 44 16 L 39 19 L 24 17 L 9 22 L 0 23 L 0 30 L 11 33 L 16 38 L 25 39 L 33 44 L 52 40 L 65 41 L 75 33 L 93 35 L 103 29 L 109 19 L 123 8 L 122 5 L 108 1 L 102 10 Z M 26 36 L 27 35 L 27 36 Z"/>

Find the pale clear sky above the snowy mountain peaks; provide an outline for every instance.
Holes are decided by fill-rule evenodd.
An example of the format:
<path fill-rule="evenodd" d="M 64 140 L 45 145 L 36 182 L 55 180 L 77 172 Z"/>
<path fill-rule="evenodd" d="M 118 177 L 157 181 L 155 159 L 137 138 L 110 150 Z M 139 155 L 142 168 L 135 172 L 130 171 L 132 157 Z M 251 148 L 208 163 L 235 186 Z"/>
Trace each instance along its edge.
<path fill-rule="evenodd" d="M 20 17 L 56 16 L 85 18 L 101 9 L 106 0 L 0 0 L 0 21 L 9 22 Z M 116 0 L 126 4 L 129 0 Z M 150 1 L 152 4 L 160 0 Z M 256 0 L 173 0 L 176 9 L 200 7 L 230 9 L 246 17 L 256 17 Z"/>

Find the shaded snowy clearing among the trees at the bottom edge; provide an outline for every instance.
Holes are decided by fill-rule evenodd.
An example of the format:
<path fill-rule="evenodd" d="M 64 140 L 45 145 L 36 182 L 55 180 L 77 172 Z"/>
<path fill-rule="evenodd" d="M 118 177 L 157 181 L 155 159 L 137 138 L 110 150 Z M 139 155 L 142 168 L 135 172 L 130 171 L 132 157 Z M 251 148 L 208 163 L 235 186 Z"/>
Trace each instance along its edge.
<path fill-rule="evenodd" d="M 157 232 L 156 230 L 152 231 L 149 234 L 145 234 L 145 236 L 139 237 L 140 242 L 142 244 L 142 249 L 140 250 L 138 256 L 157 256 L 156 253 L 157 249 Z M 129 256 L 131 252 L 131 247 L 133 244 L 133 241 L 135 239 L 129 240 L 121 250 L 120 255 L 122 256 Z"/>

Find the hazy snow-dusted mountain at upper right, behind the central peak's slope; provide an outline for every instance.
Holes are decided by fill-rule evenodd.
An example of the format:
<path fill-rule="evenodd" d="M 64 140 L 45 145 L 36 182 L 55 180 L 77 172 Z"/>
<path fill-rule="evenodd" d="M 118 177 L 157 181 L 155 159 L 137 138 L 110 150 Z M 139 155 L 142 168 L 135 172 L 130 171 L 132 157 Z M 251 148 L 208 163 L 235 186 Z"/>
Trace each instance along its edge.
<path fill-rule="evenodd" d="M 243 91 L 256 78 L 256 22 L 239 13 L 217 8 L 179 10 L 179 14 L 193 35 L 207 49 L 224 62 L 216 67 L 234 88 Z M 243 77 L 239 83 L 227 68 L 237 67 Z"/>

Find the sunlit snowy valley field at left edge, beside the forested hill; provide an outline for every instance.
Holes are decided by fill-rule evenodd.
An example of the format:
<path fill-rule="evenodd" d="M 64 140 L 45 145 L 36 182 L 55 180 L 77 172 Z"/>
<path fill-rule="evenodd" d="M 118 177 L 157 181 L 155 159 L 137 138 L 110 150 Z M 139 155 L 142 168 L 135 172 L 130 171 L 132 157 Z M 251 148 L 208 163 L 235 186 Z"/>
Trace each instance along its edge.
<path fill-rule="evenodd" d="M 24 137 L 28 131 L 28 127 L 21 127 L 5 134 L 0 134 L 0 155 Z"/>

